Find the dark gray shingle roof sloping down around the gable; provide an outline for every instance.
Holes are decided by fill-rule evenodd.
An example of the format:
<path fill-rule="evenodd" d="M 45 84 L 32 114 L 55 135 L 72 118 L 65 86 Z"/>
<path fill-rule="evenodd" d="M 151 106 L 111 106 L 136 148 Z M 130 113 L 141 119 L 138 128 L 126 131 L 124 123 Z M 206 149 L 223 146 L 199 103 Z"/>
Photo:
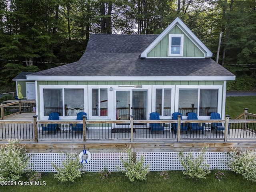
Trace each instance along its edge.
<path fill-rule="evenodd" d="M 37 76 L 234 76 L 211 58 L 140 58 L 158 35 L 91 34 L 77 62 Z"/>

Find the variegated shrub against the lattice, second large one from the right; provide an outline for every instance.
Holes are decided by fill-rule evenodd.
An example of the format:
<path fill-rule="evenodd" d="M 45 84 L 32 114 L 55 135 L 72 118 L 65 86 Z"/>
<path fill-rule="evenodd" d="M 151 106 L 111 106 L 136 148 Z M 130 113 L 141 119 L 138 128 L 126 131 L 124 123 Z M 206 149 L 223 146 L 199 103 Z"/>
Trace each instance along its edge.
<path fill-rule="evenodd" d="M 206 164 L 204 158 L 207 148 L 208 146 L 205 145 L 197 157 L 194 157 L 191 151 L 186 155 L 184 152 L 178 154 L 178 159 L 185 169 L 182 171 L 184 175 L 196 180 L 206 179 L 206 175 L 211 172 L 210 165 Z"/>

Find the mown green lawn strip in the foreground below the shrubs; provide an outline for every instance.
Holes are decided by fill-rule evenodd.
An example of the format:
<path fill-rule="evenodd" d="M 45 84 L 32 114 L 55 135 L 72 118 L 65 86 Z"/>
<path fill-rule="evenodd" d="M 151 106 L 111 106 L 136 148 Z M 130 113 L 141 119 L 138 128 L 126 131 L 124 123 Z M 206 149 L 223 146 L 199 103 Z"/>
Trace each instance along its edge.
<path fill-rule="evenodd" d="M 255 192 L 256 183 L 245 180 L 231 171 L 222 171 L 225 177 L 220 181 L 213 170 L 206 179 L 191 180 L 182 171 L 168 171 L 169 178 L 160 178 L 160 172 L 150 172 L 145 181 L 130 182 L 121 172 L 112 172 L 109 178 L 99 179 L 99 173 L 86 172 L 74 183 L 61 183 L 53 173 L 42 174 L 45 186 L 0 186 L 1 192 Z M 28 181 L 26 176 L 20 181 Z"/>

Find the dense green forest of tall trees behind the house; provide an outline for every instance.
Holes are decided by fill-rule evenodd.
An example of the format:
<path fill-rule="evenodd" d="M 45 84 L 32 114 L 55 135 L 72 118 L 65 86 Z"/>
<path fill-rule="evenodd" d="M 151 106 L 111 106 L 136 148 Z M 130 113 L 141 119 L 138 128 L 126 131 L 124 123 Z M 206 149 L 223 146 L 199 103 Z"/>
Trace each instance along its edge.
<path fill-rule="evenodd" d="M 90 34 L 160 34 L 176 17 L 236 75 L 228 90 L 256 87 L 255 0 L 0 0 L 0 92 L 76 62 Z"/>

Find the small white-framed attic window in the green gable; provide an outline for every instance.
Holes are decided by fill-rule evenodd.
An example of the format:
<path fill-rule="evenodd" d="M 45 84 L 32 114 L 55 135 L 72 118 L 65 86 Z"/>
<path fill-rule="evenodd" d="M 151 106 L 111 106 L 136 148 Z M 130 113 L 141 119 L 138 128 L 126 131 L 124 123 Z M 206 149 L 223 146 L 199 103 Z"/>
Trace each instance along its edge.
<path fill-rule="evenodd" d="M 169 54 L 168 56 L 183 56 L 183 35 L 169 35 Z"/>

